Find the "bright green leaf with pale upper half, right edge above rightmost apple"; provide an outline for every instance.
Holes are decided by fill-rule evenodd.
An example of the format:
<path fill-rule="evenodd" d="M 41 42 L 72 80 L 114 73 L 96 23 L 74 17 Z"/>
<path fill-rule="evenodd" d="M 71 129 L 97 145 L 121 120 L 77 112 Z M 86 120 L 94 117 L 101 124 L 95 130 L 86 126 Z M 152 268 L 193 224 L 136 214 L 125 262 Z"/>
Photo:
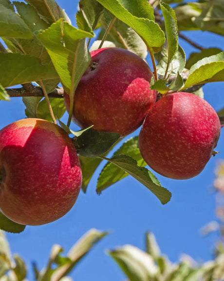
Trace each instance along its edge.
<path fill-rule="evenodd" d="M 224 81 L 224 52 L 210 56 L 192 65 L 183 89 L 190 86 Z"/>

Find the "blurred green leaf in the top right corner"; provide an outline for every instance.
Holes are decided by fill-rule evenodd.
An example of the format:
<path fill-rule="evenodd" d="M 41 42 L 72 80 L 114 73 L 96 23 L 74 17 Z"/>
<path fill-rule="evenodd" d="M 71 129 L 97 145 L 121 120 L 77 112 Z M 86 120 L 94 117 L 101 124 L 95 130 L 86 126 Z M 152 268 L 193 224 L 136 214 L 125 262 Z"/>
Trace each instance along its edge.
<path fill-rule="evenodd" d="M 206 1 L 202 13 L 195 23 L 203 31 L 211 31 L 224 36 L 224 0 Z"/>

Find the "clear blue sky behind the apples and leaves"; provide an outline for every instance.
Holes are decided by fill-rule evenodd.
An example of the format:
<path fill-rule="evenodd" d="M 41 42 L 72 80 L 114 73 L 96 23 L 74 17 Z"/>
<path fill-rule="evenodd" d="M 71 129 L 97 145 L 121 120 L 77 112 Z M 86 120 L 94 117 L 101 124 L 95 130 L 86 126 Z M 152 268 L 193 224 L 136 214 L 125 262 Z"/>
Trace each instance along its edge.
<path fill-rule="evenodd" d="M 78 1 L 58 0 L 73 24 Z M 223 48 L 223 37 L 207 32 L 186 32 L 192 40 L 205 47 Z M 187 56 L 197 51 L 180 39 Z M 224 107 L 224 83 L 204 87 L 205 99 L 216 109 Z M 25 118 L 24 105 L 20 98 L 11 102 L 0 101 L 0 128 Z M 67 118 L 65 116 L 64 118 Z M 74 127 L 75 128 L 75 127 Z M 132 135 L 136 135 L 137 132 Z M 127 137 L 128 139 L 129 137 Z M 19 253 L 28 265 L 29 280 L 33 280 L 31 262 L 38 268 L 46 265 L 53 244 L 60 244 L 65 253 L 86 231 L 91 228 L 110 230 L 111 234 L 99 242 L 72 272 L 76 281 L 121 281 L 125 277 L 115 262 L 105 254 L 124 244 L 133 244 L 144 249 L 144 235 L 152 231 L 163 253 L 171 261 L 177 261 L 181 253 L 197 261 L 212 258 L 215 233 L 201 237 L 199 229 L 215 216 L 215 194 L 212 188 L 214 169 L 219 159 L 224 159 L 224 129 L 218 143 L 215 158 L 212 157 L 204 171 L 189 180 L 171 180 L 158 175 L 161 184 L 172 192 L 171 201 L 163 206 L 143 185 L 128 176 L 105 190 L 100 196 L 95 193 L 94 176 L 87 194 L 80 193 L 74 208 L 59 220 L 37 227 L 26 227 L 21 234 L 7 234 L 12 253 Z M 102 166 L 100 167 L 102 168 Z M 100 172 L 100 168 L 98 172 Z"/>

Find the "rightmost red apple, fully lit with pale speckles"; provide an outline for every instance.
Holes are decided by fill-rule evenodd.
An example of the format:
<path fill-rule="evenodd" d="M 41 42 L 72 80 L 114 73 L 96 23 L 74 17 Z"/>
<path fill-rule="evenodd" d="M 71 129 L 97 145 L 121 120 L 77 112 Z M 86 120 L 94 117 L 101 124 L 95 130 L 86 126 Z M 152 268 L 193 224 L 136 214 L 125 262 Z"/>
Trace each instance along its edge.
<path fill-rule="evenodd" d="M 168 94 L 147 114 L 139 149 L 155 172 L 188 179 L 205 168 L 220 128 L 218 115 L 204 99 L 186 92 Z"/>

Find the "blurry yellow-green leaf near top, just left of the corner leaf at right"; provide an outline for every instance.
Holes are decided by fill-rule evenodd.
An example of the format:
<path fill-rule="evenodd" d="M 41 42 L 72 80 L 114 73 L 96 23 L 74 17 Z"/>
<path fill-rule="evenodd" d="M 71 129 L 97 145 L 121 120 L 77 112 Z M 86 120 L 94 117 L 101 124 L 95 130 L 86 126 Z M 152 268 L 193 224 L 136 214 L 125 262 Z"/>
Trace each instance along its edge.
<path fill-rule="evenodd" d="M 202 6 L 204 4 L 200 2 L 188 2 L 178 5 L 174 8 L 178 29 L 181 30 L 198 30 L 199 27 L 192 20 L 194 17 L 198 17 L 202 12 Z"/>

